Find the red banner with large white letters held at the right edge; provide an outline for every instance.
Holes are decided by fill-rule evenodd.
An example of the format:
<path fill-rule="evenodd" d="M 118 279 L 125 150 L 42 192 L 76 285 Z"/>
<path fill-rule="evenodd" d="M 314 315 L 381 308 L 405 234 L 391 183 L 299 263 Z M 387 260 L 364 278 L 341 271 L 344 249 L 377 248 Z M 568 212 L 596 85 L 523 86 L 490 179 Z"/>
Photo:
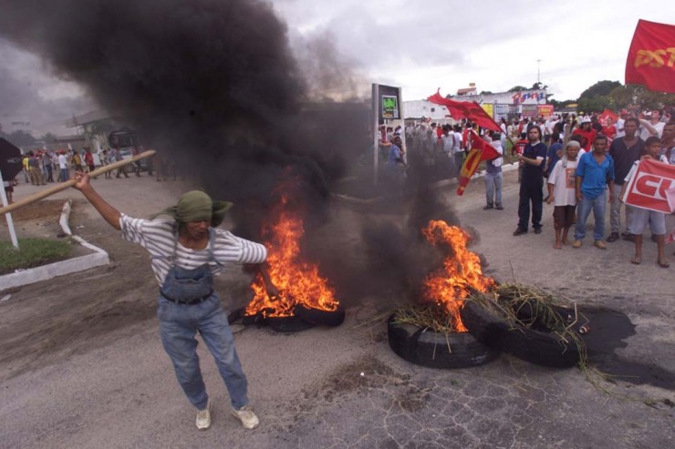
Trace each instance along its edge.
<path fill-rule="evenodd" d="M 671 213 L 669 190 L 675 189 L 675 165 L 642 159 L 628 182 L 623 201 L 637 208 Z"/>

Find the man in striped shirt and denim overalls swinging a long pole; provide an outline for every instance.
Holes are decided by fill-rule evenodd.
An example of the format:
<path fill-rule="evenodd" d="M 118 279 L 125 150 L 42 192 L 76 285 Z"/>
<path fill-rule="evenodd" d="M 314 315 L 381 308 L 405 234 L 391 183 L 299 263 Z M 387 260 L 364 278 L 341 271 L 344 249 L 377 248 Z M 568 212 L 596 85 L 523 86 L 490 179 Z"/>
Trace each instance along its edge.
<path fill-rule="evenodd" d="M 197 428 L 209 428 L 212 406 L 197 357 L 197 332 L 213 354 L 230 393 L 232 413 L 244 428 L 257 427 L 259 421 L 248 402 L 246 376 L 234 350 L 227 315 L 213 291 L 213 276 L 230 263 L 262 264 L 267 257 L 265 246 L 216 229 L 232 203 L 213 201 L 203 191 L 183 194 L 176 206 L 154 216 L 167 215 L 171 219 L 132 219 L 99 195 L 89 183 L 88 174 L 77 172 L 75 179 L 75 189 L 110 226 L 122 231 L 123 239 L 140 244 L 151 254 L 151 268 L 160 285 L 157 316 L 161 342 L 183 392 L 198 410 Z M 262 265 L 257 268 L 263 274 L 268 294 L 274 298 L 278 291 Z"/>

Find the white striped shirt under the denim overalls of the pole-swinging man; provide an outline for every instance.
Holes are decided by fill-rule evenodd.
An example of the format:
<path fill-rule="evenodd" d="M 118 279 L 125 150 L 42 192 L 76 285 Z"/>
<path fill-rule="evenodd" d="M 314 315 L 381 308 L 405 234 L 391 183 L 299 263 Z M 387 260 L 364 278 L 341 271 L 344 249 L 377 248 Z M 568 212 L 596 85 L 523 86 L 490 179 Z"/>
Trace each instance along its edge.
<path fill-rule="evenodd" d="M 164 283 L 169 269 L 172 266 L 172 255 L 175 248 L 175 264 L 193 270 L 208 263 L 211 272 L 217 276 L 223 272 L 223 266 L 228 263 L 262 263 L 267 259 L 267 250 L 264 245 L 254 241 L 236 237 L 227 230 L 213 229 L 213 260 L 209 256 L 209 249 L 191 250 L 176 241 L 175 222 L 162 219 L 132 219 L 122 214 L 119 219 L 122 229 L 122 238 L 148 250 L 151 254 L 151 267 L 155 278 L 161 285 Z M 216 261 L 218 263 L 216 263 Z"/>

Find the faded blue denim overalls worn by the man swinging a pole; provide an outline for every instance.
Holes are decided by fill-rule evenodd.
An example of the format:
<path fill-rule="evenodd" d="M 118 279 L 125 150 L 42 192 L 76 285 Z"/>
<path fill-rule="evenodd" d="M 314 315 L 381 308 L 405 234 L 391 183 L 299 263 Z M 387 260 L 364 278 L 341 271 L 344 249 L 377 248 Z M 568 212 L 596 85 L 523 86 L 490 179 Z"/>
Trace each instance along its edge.
<path fill-rule="evenodd" d="M 209 228 L 209 256 L 213 259 L 215 232 Z M 183 392 L 197 409 L 203 410 L 208 395 L 197 356 L 196 333 L 213 354 L 235 409 L 248 403 L 246 376 L 234 350 L 234 338 L 218 295 L 213 291 L 213 274 L 208 263 L 194 270 L 175 265 L 178 234 L 175 235 L 171 269 L 160 289 L 157 316 L 161 343 L 171 357 Z M 163 256 L 155 256 L 163 257 Z M 217 260 L 215 262 L 221 265 Z"/>

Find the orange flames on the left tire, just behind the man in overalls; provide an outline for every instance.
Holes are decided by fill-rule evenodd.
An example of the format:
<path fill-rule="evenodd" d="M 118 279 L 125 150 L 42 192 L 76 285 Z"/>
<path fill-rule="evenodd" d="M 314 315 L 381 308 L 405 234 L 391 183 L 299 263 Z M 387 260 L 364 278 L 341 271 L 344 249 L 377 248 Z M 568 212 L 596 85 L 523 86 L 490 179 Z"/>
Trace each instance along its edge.
<path fill-rule="evenodd" d="M 294 314 L 297 304 L 321 311 L 336 311 L 339 302 L 325 278 L 319 275 L 317 265 L 298 260 L 299 240 L 305 234 L 302 219 L 292 216 L 284 207 L 283 197 L 274 224 L 264 227 L 267 248 L 267 265 L 272 283 L 279 296 L 271 301 L 265 282 L 258 274 L 251 284 L 254 299 L 244 310 L 244 315 L 262 314 L 265 317 L 283 317 Z"/>

